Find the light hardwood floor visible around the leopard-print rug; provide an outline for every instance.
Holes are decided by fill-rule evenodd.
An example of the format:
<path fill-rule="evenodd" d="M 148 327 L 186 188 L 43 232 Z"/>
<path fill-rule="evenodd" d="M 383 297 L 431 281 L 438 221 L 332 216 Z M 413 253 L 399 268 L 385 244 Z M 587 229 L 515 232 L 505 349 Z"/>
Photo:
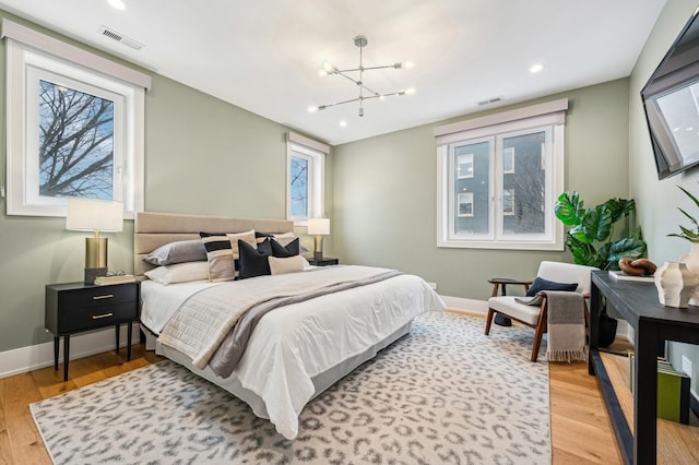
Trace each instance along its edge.
<path fill-rule="evenodd" d="M 50 464 L 28 404 L 130 371 L 161 358 L 133 347 L 72 360 L 70 380 L 52 367 L 0 379 L 0 464 Z M 550 363 L 553 463 L 619 464 L 620 456 L 604 408 L 596 378 L 585 362 Z"/>

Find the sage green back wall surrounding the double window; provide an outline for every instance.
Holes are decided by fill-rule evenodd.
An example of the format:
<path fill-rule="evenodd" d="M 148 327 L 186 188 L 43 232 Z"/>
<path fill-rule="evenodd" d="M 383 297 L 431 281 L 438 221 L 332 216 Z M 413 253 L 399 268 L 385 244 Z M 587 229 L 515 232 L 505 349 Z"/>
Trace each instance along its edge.
<path fill-rule="evenodd" d="M 628 80 L 580 88 L 336 146 L 333 238 L 347 263 L 395 267 L 437 283 L 441 295 L 484 300 L 493 276 L 529 278 L 568 252 L 437 248 L 433 129 L 536 103 L 569 99 L 566 181 L 588 205 L 628 194 Z"/>

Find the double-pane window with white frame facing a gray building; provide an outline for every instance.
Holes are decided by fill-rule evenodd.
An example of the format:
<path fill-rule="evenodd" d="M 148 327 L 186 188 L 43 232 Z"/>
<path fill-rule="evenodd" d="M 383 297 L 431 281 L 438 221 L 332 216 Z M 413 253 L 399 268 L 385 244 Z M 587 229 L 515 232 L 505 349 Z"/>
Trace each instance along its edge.
<path fill-rule="evenodd" d="M 553 208 L 564 190 L 567 105 L 436 128 L 438 247 L 562 250 Z"/>

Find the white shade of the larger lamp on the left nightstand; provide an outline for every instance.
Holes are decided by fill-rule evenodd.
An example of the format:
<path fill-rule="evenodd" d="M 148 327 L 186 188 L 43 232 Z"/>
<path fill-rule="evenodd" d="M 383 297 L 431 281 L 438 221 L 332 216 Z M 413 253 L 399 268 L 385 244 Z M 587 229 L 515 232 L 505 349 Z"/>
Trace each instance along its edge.
<path fill-rule="evenodd" d="M 123 229 L 123 203 L 97 199 L 69 199 L 66 229 L 118 233 Z"/>

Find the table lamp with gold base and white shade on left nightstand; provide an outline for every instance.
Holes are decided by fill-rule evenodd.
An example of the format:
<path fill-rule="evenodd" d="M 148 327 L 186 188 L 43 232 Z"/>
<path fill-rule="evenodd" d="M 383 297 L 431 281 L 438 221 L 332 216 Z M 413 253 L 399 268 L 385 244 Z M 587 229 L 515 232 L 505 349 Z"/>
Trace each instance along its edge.
<path fill-rule="evenodd" d="M 99 233 L 123 229 L 123 203 L 97 199 L 69 199 L 66 229 L 93 231 L 85 238 L 85 284 L 107 275 L 107 238 Z"/>

